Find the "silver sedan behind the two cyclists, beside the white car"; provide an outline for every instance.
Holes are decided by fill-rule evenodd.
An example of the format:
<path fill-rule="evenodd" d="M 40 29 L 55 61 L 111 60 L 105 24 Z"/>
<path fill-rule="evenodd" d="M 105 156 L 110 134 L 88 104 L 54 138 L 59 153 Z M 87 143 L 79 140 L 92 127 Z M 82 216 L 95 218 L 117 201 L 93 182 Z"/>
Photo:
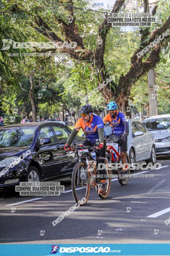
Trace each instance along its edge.
<path fill-rule="evenodd" d="M 146 163 L 156 163 L 155 139 L 153 134 L 138 120 L 127 119 L 127 153 L 131 163 L 146 161 Z M 107 123 L 104 126 L 106 135 L 112 133 L 111 126 Z M 83 133 L 81 137 L 85 138 Z M 114 143 L 114 148 L 118 149 L 118 144 Z M 131 170 L 133 172 L 134 170 Z"/>

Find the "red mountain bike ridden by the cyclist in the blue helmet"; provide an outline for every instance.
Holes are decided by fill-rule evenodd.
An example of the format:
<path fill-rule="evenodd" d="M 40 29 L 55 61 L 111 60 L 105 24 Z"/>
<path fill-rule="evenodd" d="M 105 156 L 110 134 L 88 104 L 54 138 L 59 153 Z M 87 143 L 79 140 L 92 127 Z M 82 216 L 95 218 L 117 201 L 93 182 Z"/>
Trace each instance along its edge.
<path fill-rule="evenodd" d="M 121 145 L 122 141 L 120 141 L 119 136 L 111 134 L 111 135 L 106 136 L 106 143 L 107 143 L 106 152 L 109 154 L 109 165 L 110 165 L 110 163 L 115 163 L 114 169 L 112 169 L 111 168 L 112 166 L 110 165 L 111 174 L 118 175 L 119 183 L 121 185 L 126 185 L 128 182 L 128 179 L 129 179 L 129 175 L 130 175 L 130 165 L 129 165 L 129 168 L 128 168 L 128 165 L 125 165 L 126 172 L 125 172 L 124 180 L 120 180 L 120 176 L 122 174 L 122 167 L 120 167 L 118 165 L 118 163 L 122 163 L 121 156 L 119 154 L 120 145 Z M 114 148 L 114 143 L 118 143 L 118 151 L 116 151 L 116 149 Z M 126 153 L 126 163 L 130 164 L 129 155 L 127 153 Z"/>

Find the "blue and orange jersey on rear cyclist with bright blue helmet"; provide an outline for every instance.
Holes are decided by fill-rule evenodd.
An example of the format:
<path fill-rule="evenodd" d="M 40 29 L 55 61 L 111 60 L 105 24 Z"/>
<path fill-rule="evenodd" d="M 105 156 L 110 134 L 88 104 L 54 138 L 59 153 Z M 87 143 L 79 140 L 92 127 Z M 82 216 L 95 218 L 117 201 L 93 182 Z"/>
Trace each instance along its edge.
<path fill-rule="evenodd" d="M 118 111 L 116 113 L 115 118 L 113 118 L 110 114 L 106 115 L 103 118 L 104 124 L 109 122 L 109 125 L 111 126 L 112 133 L 116 134 L 116 135 L 123 134 L 123 132 L 125 130 L 125 126 L 123 124 L 124 121 L 126 121 L 125 116 L 123 115 L 123 113 L 118 112 Z"/>

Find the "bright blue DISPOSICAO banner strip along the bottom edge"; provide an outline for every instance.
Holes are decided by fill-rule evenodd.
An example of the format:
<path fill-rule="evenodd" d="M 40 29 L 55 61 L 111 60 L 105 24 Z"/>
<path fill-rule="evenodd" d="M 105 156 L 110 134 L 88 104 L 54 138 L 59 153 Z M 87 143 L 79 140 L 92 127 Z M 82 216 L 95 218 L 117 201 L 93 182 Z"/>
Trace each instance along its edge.
<path fill-rule="evenodd" d="M 170 244 L 0 244 L 0 252 L 1 256 L 170 255 Z"/>

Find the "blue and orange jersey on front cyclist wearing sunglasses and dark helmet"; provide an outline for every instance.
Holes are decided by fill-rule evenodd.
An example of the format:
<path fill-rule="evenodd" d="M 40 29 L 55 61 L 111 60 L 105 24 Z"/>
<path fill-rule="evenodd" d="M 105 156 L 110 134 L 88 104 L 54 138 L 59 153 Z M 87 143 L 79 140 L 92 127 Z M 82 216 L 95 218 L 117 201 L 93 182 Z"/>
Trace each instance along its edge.
<path fill-rule="evenodd" d="M 103 120 L 98 115 L 92 115 L 92 120 L 89 123 L 84 123 L 81 117 L 74 125 L 74 129 L 76 129 L 77 131 L 79 131 L 82 128 L 82 130 L 85 133 L 86 139 L 93 144 L 100 144 L 97 129 L 103 127 Z"/>

